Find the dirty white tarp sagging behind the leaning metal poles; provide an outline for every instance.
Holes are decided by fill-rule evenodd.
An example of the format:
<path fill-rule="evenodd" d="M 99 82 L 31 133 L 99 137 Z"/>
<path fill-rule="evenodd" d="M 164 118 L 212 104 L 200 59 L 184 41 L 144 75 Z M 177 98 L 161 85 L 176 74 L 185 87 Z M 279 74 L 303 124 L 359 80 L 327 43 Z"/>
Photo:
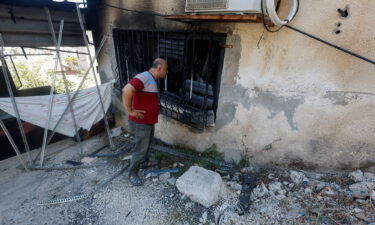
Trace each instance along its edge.
<path fill-rule="evenodd" d="M 104 109 L 108 110 L 111 103 L 112 82 L 99 85 L 100 93 L 103 99 Z M 73 97 L 75 92 L 71 92 Z M 35 124 L 40 127 L 46 127 L 48 119 L 48 103 L 50 96 L 31 96 L 16 97 L 16 103 L 20 113 L 21 120 Z M 66 94 L 56 94 L 53 98 L 52 117 L 49 129 L 52 130 L 62 113 L 68 105 Z M 13 105 L 10 98 L 0 98 L 0 109 L 15 116 Z M 73 111 L 77 126 L 89 130 L 91 126 L 103 118 L 103 112 L 100 106 L 100 100 L 96 87 L 80 90 L 73 101 Z M 68 110 L 56 132 L 73 137 L 75 135 L 72 114 Z"/>

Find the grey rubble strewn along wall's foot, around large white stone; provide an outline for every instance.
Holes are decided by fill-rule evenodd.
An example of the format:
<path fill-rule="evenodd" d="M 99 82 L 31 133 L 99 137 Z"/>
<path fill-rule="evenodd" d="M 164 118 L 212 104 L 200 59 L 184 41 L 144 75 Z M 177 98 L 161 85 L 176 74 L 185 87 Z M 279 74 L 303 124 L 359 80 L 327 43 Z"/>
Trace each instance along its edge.
<path fill-rule="evenodd" d="M 195 168 L 194 171 L 195 177 L 201 176 L 197 174 L 200 170 Z M 249 174 L 256 177 L 253 180 L 256 184 L 251 193 L 244 193 L 249 191 L 243 187 Z M 241 172 L 221 174 L 221 178 L 227 191 L 216 204 L 202 204 L 191 197 L 191 193 L 179 193 L 182 199 L 188 197 L 183 206 L 187 215 L 193 216 L 192 210 L 201 207 L 195 215 L 197 223 L 181 224 L 375 225 L 375 175 L 372 173 L 357 170 L 349 174 L 323 174 L 248 167 Z M 177 185 L 190 187 L 194 184 L 181 185 L 178 179 Z M 249 207 L 244 209 L 241 196 L 246 194 L 250 196 Z"/>

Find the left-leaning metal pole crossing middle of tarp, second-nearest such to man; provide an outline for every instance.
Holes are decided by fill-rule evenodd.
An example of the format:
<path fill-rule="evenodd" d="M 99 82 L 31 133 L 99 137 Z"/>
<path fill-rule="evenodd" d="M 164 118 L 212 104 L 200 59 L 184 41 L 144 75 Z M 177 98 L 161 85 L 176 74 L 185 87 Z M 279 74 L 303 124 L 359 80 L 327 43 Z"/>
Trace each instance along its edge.
<path fill-rule="evenodd" d="M 66 79 L 66 75 L 65 75 L 65 72 L 64 72 L 64 67 L 63 67 L 63 64 L 62 64 L 61 55 L 60 55 L 60 52 L 57 49 L 59 47 L 58 46 L 59 43 L 56 40 L 56 34 L 55 34 L 55 29 L 53 28 L 53 24 L 52 24 L 51 13 L 50 13 L 48 8 L 44 8 L 44 10 L 46 11 L 46 14 L 47 14 L 48 25 L 49 25 L 49 28 L 51 30 L 51 35 L 52 35 L 52 41 L 53 41 L 53 44 L 56 46 L 56 55 L 57 55 L 57 59 L 58 59 L 59 64 L 60 64 L 61 73 L 62 73 L 62 76 L 63 76 L 63 79 L 64 79 L 66 96 L 68 98 L 68 102 L 70 103 L 71 102 L 70 90 L 69 90 L 68 81 Z M 81 143 L 81 137 L 78 133 L 78 126 L 77 126 L 76 117 L 74 115 L 73 103 L 71 103 L 71 105 L 70 105 L 70 113 L 72 115 L 72 120 L 73 120 L 73 124 L 74 124 L 74 131 L 76 133 L 78 145 L 79 145 L 79 148 L 80 148 L 80 157 L 82 157 L 83 156 L 83 147 L 82 147 L 82 143 Z"/>

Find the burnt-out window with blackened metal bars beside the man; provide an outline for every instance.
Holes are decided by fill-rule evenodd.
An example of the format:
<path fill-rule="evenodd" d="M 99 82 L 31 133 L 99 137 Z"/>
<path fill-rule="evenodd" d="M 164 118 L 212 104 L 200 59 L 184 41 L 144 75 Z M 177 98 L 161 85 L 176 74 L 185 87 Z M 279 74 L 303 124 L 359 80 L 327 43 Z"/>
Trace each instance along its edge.
<path fill-rule="evenodd" d="M 215 124 L 226 34 L 114 29 L 113 38 L 121 87 L 164 58 L 161 113 L 198 129 Z"/>

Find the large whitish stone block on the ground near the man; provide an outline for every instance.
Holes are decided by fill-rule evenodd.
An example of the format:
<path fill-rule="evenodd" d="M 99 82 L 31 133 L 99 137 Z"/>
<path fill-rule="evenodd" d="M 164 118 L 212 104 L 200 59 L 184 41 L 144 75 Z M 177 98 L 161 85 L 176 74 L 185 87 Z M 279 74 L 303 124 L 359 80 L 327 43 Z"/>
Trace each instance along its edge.
<path fill-rule="evenodd" d="M 199 166 L 192 166 L 176 181 L 177 189 L 192 201 L 204 207 L 211 207 L 219 201 L 224 192 L 220 175 Z"/>

